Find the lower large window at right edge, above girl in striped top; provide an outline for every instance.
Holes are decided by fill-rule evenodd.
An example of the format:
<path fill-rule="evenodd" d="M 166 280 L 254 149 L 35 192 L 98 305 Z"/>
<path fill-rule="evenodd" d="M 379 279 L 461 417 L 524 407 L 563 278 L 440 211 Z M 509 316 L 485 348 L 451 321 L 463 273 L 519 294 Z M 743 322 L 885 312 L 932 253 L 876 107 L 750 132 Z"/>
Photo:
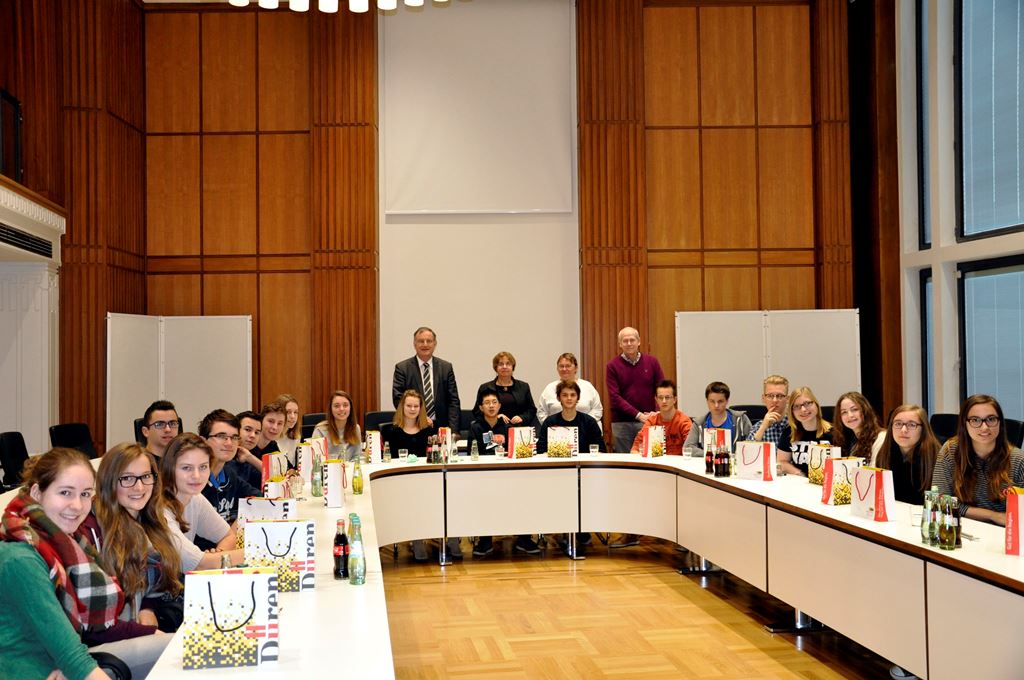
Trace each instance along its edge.
<path fill-rule="evenodd" d="M 966 262 L 959 277 L 962 396 L 995 396 L 1024 418 L 1024 256 Z"/>

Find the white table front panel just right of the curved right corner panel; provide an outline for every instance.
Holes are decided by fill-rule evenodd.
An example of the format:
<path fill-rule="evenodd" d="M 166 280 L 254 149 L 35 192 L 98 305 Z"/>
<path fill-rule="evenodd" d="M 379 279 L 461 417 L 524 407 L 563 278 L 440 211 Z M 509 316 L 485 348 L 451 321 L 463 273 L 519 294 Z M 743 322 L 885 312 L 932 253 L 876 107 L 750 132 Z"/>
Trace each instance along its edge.
<path fill-rule="evenodd" d="M 678 543 L 768 590 L 765 505 L 683 477 L 677 477 L 677 485 Z"/>

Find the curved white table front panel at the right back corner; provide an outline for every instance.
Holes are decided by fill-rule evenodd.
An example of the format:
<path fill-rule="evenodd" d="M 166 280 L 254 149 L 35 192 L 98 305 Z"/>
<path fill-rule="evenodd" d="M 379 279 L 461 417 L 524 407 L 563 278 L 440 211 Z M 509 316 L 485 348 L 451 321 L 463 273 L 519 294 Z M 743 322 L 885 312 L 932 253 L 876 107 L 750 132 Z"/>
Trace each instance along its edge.
<path fill-rule="evenodd" d="M 580 521 L 582 532 L 639 534 L 674 542 L 676 475 L 654 468 L 583 467 Z"/>

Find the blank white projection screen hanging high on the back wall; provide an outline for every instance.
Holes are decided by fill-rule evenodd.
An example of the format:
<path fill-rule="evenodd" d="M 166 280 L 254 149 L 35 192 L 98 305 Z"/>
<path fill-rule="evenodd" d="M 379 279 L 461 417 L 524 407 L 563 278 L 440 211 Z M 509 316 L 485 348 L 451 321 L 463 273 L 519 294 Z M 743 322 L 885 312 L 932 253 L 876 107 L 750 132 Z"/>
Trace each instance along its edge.
<path fill-rule="evenodd" d="M 387 214 L 572 210 L 573 11 L 473 0 L 381 19 Z"/>

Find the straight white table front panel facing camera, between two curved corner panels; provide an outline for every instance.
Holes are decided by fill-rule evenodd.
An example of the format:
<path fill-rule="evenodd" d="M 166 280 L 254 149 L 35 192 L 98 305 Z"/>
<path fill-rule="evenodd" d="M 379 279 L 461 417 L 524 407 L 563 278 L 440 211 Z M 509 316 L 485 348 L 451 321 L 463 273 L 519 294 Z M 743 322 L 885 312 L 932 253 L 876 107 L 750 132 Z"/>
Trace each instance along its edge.
<path fill-rule="evenodd" d="M 447 470 L 447 535 L 502 536 L 575 532 L 575 467 Z"/>

